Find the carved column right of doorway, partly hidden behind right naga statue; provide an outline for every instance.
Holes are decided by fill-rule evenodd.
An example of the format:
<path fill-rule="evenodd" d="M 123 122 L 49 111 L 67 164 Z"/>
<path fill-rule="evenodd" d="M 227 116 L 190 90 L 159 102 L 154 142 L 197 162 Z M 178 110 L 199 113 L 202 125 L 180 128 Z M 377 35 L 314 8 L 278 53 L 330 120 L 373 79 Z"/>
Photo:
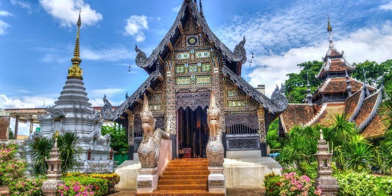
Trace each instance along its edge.
<path fill-rule="evenodd" d="M 223 60 L 225 61 L 225 60 Z M 211 72 L 212 90 L 215 92 L 215 101 L 221 112 L 219 123 L 221 124 L 222 144 L 224 148 L 224 157 L 226 157 L 226 126 L 224 123 L 224 92 L 223 92 L 223 73 L 219 66 L 212 67 Z"/>

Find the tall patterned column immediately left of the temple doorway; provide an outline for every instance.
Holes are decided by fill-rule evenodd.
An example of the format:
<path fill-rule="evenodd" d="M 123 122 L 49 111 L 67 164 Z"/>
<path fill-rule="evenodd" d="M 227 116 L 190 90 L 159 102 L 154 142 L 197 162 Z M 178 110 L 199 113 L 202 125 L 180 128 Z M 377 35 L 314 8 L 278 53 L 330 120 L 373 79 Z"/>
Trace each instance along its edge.
<path fill-rule="evenodd" d="M 170 140 L 172 141 L 172 159 L 175 159 L 177 155 L 174 67 L 175 64 L 173 61 L 166 62 L 165 79 L 164 79 L 165 132 L 170 134 Z"/>

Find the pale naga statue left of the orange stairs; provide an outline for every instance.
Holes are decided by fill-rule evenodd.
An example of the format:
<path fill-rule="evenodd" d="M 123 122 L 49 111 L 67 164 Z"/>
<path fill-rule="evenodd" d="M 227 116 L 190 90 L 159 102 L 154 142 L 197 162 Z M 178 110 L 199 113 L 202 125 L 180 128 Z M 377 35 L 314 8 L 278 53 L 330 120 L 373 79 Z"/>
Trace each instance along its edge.
<path fill-rule="evenodd" d="M 143 95 L 143 111 L 141 113 L 143 139 L 138 149 L 138 156 L 142 168 L 156 168 L 161 146 L 161 138 L 169 139 L 168 133 L 158 128 L 155 129 L 155 119 L 148 107 L 146 94 Z"/>

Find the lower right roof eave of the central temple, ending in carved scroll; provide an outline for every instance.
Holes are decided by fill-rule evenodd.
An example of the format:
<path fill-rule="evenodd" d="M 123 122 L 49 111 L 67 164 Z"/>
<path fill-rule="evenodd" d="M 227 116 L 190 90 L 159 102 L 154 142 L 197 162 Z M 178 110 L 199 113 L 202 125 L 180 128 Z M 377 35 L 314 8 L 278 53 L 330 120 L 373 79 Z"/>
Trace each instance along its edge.
<path fill-rule="evenodd" d="M 268 98 L 267 96 L 254 89 L 249 83 L 244 80 L 244 78 L 235 74 L 228 67 L 223 67 L 222 73 L 228 78 L 230 78 L 234 84 L 240 87 L 240 89 L 243 90 L 246 94 L 248 94 L 251 98 L 254 98 L 257 102 L 262 104 L 263 107 L 266 108 L 268 111 L 276 114 L 283 112 L 287 109 L 289 101 L 283 94 L 283 85 L 280 89 L 276 85 L 275 91 L 272 93 L 271 98 Z"/>

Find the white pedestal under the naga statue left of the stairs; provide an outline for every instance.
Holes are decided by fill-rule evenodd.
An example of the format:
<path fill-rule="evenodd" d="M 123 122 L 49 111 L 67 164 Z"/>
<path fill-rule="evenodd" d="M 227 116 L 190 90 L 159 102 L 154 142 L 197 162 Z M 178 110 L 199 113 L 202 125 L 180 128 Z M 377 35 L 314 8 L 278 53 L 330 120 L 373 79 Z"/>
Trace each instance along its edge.
<path fill-rule="evenodd" d="M 140 168 L 137 177 L 137 193 L 151 193 L 158 187 L 158 168 Z"/>

